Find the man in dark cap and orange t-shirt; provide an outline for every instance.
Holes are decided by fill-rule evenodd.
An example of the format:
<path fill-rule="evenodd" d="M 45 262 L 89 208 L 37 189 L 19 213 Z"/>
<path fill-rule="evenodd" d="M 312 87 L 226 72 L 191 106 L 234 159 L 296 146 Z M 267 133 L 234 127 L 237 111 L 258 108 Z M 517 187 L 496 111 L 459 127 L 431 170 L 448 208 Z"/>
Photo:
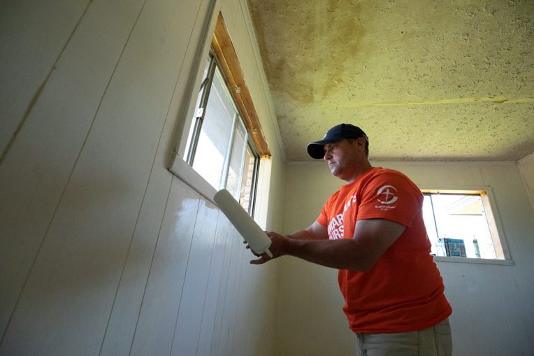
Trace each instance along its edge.
<path fill-rule="evenodd" d="M 273 258 L 291 255 L 339 269 L 343 311 L 357 355 L 451 355 L 440 272 L 431 255 L 423 195 L 398 171 L 373 167 L 368 137 L 338 124 L 308 145 L 345 180 L 310 227 L 287 236 L 267 232 Z M 270 260 L 259 255 L 252 264 Z"/>

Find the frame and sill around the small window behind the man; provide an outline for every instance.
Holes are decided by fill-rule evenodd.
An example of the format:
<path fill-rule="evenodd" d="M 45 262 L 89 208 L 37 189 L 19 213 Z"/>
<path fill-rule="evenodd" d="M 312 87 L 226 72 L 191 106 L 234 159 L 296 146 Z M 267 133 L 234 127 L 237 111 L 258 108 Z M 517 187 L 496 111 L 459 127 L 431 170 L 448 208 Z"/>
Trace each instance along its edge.
<path fill-rule="evenodd" d="M 497 256 L 504 257 L 504 259 L 486 259 L 472 257 L 434 256 L 436 262 L 500 264 L 505 266 L 514 265 L 514 261 L 510 255 L 510 250 L 508 249 L 505 232 L 500 222 L 496 201 L 493 198 L 493 190 L 491 190 L 489 185 L 462 187 L 444 187 L 440 185 L 438 189 L 435 186 L 419 186 L 419 190 L 421 190 L 421 193 L 423 194 L 479 194 L 482 199 L 482 204 L 484 205 L 484 211 L 486 213 L 486 220 L 488 221 L 490 229 L 493 248 L 495 249 Z"/>

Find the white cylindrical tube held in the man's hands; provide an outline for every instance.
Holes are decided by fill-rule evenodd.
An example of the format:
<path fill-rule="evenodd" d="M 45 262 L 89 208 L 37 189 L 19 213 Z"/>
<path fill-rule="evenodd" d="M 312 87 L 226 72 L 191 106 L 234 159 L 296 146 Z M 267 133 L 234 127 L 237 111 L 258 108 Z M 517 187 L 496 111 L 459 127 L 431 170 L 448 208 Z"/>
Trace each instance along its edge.
<path fill-rule="evenodd" d="M 233 227 L 243 236 L 254 252 L 259 255 L 266 253 L 268 257 L 273 258 L 273 254 L 269 251 L 270 238 L 247 211 L 243 209 L 243 206 L 240 206 L 228 190 L 219 190 L 213 196 L 213 200 L 215 200 L 217 206 L 219 206 L 224 215 L 226 215 L 226 218 L 230 220 Z"/>

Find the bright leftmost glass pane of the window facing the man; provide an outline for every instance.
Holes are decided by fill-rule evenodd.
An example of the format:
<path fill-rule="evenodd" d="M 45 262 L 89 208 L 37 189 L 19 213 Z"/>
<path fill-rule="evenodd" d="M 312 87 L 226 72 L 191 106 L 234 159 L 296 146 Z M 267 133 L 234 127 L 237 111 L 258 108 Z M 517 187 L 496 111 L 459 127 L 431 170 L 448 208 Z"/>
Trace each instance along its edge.
<path fill-rule="evenodd" d="M 193 162 L 195 171 L 215 189 L 221 187 L 221 176 L 235 116 L 236 108 L 217 68 Z"/>

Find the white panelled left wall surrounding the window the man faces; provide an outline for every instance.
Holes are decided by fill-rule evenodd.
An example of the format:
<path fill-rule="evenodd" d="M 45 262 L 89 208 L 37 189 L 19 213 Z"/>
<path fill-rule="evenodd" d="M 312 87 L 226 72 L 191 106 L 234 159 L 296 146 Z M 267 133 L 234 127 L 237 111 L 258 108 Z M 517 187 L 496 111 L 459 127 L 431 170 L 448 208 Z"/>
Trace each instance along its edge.
<path fill-rule="evenodd" d="M 250 266 L 166 170 L 211 8 L 255 45 L 239 0 L 0 4 L 0 355 L 273 355 L 277 264 Z M 273 152 L 258 210 L 280 229 L 255 53 L 238 51 Z"/>

